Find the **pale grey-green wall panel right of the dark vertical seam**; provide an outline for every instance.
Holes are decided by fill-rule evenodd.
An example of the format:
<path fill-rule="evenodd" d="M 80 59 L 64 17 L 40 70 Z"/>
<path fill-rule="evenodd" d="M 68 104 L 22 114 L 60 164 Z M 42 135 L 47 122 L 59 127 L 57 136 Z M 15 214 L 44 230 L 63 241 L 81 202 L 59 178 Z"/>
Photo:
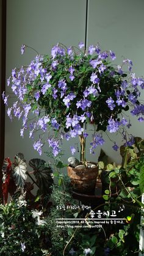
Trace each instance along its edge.
<path fill-rule="evenodd" d="M 99 42 L 101 49 L 112 50 L 117 55 L 115 64 L 123 58 L 131 59 L 137 76 L 144 75 L 144 1 L 143 0 L 89 0 L 88 1 L 87 44 Z M 144 100 L 144 92 L 141 95 Z M 127 113 L 126 113 L 127 114 Z M 129 133 L 144 137 L 144 122 L 131 117 Z M 119 152 L 112 149 L 112 142 L 106 139 L 103 149 L 113 161 L 120 163 Z M 112 139 L 123 144 L 121 136 L 113 134 Z"/>

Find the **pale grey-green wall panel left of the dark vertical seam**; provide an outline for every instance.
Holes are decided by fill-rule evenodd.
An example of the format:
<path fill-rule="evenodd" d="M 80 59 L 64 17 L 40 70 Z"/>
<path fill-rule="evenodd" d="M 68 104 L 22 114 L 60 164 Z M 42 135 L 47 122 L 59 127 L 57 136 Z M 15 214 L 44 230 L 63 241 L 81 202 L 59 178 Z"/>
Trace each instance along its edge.
<path fill-rule="evenodd" d="M 85 0 L 7 0 L 7 78 L 13 68 L 29 64 L 35 57 L 31 49 L 21 56 L 22 44 L 47 54 L 57 42 L 68 46 L 84 41 L 85 12 Z M 10 122 L 6 115 L 5 157 L 13 158 L 17 152 L 23 152 L 27 160 L 39 157 L 29 134 L 20 137 L 20 127 L 17 119 Z M 42 158 L 47 159 L 45 154 Z"/>

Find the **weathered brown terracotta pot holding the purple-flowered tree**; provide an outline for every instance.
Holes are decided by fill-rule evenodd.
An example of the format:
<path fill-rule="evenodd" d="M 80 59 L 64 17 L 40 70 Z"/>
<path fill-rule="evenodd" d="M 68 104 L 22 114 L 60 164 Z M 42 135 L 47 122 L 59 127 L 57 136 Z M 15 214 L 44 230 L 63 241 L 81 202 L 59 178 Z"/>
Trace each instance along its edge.
<path fill-rule="evenodd" d="M 71 178 L 71 185 L 74 191 L 92 194 L 95 192 L 98 166 L 95 168 L 85 167 L 85 169 L 75 169 L 68 166 L 68 176 Z"/>

